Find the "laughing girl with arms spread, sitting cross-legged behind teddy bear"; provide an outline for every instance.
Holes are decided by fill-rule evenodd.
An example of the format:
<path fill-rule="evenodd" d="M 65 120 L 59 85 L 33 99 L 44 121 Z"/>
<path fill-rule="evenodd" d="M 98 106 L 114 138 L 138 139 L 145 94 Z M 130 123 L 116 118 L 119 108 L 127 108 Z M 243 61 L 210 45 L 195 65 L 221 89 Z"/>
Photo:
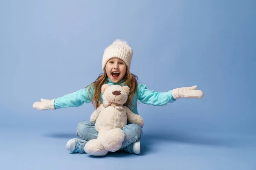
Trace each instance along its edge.
<path fill-rule="evenodd" d="M 78 107 L 92 102 L 97 109 L 102 107 L 101 87 L 105 83 L 109 85 L 126 85 L 130 88 L 130 94 L 125 105 L 133 113 L 137 111 L 137 100 L 144 104 L 155 106 L 166 105 L 169 102 L 175 102 L 180 97 L 183 98 L 202 98 L 204 96 L 201 90 L 196 90 L 197 86 L 175 88 L 168 92 L 155 92 L 146 88 L 146 85 L 137 83 L 137 76 L 131 74 L 130 66 L 133 56 L 133 50 L 127 42 L 115 40 L 109 45 L 102 57 L 102 69 L 104 74 L 99 76 L 95 82 L 86 88 L 67 94 L 57 99 L 41 99 L 41 102 L 35 102 L 33 108 L 38 110 L 59 109 L 67 107 Z M 137 124 L 128 124 L 123 129 L 125 140 L 120 150 L 128 153 L 140 153 L 140 139 L 143 135 L 141 127 Z M 67 150 L 73 153 L 85 153 L 84 146 L 90 139 L 96 139 L 98 132 L 95 129 L 95 122 L 79 122 L 76 134 L 81 139 L 70 139 L 67 144 Z"/>

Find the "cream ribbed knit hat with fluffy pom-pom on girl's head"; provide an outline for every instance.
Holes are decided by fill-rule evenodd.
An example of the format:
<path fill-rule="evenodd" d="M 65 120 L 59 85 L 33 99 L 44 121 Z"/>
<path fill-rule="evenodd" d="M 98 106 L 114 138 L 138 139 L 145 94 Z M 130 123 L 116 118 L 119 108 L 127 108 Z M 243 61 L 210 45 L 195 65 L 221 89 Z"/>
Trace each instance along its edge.
<path fill-rule="evenodd" d="M 117 39 L 104 51 L 102 57 L 102 70 L 104 71 L 105 65 L 107 64 L 108 60 L 114 57 L 122 59 L 127 65 L 128 70 L 130 70 L 132 55 L 133 50 L 128 45 L 128 43 Z"/>

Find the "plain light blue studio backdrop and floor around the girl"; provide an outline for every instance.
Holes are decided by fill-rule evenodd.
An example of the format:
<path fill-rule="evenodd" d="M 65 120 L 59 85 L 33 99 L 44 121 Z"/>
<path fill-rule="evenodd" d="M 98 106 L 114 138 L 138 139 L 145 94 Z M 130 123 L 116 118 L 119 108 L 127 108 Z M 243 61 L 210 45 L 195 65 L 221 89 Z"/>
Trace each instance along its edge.
<path fill-rule="evenodd" d="M 253 0 L 0 1 L 0 169 L 256 169 Z M 156 107 L 141 154 L 71 154 L 66 142 L 94 108 L 38 111 L 36 101 L 84 88 L 104 49 L 126 40 L 131 73 L 150 90 L 198 85 L 202 99 Z"/>

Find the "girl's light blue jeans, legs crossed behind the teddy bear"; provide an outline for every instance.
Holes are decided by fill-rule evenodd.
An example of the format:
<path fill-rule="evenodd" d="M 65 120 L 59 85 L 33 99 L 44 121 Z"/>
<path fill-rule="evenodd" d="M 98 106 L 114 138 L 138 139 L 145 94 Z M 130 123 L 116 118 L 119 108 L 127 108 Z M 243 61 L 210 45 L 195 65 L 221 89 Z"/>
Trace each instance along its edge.
<path fill-rule="evenodd" d="M 143 135 L 141 127 L 134 123 L 126 125 L 122 130 L 125 133 L 125 140 L 122 142 L 121 148 L 126 147 L 129 144 L 136 142 L 137 140 L 140 140 Z M 98 132 L 95 128 L 95 122 L 79 122 L 76 128 L 76 134 L 85 141 L 97 139 Z"/>

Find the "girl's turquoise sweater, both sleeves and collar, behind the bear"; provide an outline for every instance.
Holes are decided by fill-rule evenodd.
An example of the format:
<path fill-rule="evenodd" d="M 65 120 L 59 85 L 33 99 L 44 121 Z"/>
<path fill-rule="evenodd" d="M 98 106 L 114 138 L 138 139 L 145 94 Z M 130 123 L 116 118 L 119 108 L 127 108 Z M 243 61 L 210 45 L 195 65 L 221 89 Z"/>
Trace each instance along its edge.
<path fill-rule="evenodd" d="M 108 78 L 107 83 L 109 85 L 121 85 L 124 82 L 124 80 L 121 80 L 117 83 L 111 82 L 111 80 Z M 92 89 L 92 88 L 91 88 Z M 55 99 L 54 101 L 54 107 L 56 109 L 59 108 L 67 108 L 67 107 L 78 107 L 86 103 L 90 103 L 90 99 L 93 98 L 93 91 L 90 90 L 90 99 L 87 96 L 88 92 L 88 87 L 83 88 L 79 91 L 76 91 L 72 94 L 66 94 L 62 97 L 59 97 Z M 130 106 L 130 108 L 133 110 L 133 113 L 139 114 L 138 109 L 137 109 L 137 100 L 144 104 L 151 104 L 154 106 L 162 106 L 162 105 L 167 105 L 169 102 L 175 102 L 176 100 L 172 96 L 172 90 L 168 92 L 155 92 L 148 90 L 146 85 L 138 83 L 137 86 L 137 95 L 134 95 L 133 100 L 131 102 L 134 107 Z M 102 94 L 101 94 L 101 101 L 102 101 Z"/>

